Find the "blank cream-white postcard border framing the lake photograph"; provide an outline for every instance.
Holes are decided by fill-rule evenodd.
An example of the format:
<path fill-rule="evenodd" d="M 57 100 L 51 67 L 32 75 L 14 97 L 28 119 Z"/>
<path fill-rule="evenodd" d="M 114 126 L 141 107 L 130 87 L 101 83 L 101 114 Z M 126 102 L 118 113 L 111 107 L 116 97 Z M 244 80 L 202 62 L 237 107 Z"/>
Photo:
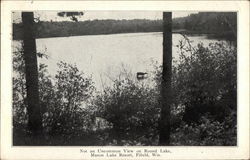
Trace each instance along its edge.
<path fill-rule="evenodd" d="M 172 153 L 158 159 L 249 158 L 249 2 L 248 1 L 2 1 L 1 2 L 1 159 L 90 159 L 79 149 L 101 147 L 13 147 L 11 142 L 11 11 L 153 10 L 238 12 L 238 146 L 153 147 Z M 114 147 L 109 147 L 114 148 Z M 124 148 L 124 147 L 115 147 Z M 126 147 L 139 149 L 146 147 Z M 150 148 L 150 147 L 147 147 Z M 93 159 L 93 158 L 92 158 Z M 96 159 L 96 158 L 95 158 Z M 112 158 L 104 158 L 112 159 Z M 117 158 L 115 158 L 117 159 Z M 122 158 L 120 158 L 122 159 Z M 126 158 L 129 159 L 129 158 Z M 136 158 L 133 158 L 136 159 Z M 139 158 L 137 158 L 139 159 Z M 149 159 L 149 158 L 140 158 Z"/>

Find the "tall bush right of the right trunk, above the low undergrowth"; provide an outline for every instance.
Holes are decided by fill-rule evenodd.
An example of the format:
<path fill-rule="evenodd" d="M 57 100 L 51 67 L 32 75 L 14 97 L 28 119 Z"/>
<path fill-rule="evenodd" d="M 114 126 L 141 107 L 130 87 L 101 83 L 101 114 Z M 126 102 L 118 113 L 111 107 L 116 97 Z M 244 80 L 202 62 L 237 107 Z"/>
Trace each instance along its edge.
<path fill-rule="evenodd" d="M 191 55 L 181 52 L 173 87 L 175 101 L 185 106 L 185 121 L 197 122 L 206 112 L 223 120 L 226 112 L 236 110 L 236 58 L 236 48 L 226 43 L 199 44 Z"/>

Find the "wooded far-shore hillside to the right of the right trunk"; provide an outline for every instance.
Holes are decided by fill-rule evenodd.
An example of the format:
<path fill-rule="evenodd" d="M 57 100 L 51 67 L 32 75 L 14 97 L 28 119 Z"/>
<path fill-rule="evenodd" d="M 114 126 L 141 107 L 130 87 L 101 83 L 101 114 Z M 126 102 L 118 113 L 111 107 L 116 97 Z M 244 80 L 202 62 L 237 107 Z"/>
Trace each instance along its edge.
<path fill-rule="evenodd" d="M 235 40 L 237 37 L 236 12 L 199 12 L 173 20 L 174 29 L 187 33 L 213 34 L 215 38 Z"/>

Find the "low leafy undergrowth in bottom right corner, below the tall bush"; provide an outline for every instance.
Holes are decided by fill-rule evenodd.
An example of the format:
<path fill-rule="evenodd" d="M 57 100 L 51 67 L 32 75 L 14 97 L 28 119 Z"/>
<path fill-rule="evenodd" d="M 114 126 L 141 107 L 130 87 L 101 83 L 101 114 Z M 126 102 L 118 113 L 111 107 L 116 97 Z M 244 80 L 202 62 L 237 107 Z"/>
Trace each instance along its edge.
<path fill-rule="evenodd" d="M 171 133 L 171 145 L 233 146 L 237 144 L 236 113 L 232 111 L 219 122 L 209 114 L 200 118 L 199 124 L 184 122 Z"/>

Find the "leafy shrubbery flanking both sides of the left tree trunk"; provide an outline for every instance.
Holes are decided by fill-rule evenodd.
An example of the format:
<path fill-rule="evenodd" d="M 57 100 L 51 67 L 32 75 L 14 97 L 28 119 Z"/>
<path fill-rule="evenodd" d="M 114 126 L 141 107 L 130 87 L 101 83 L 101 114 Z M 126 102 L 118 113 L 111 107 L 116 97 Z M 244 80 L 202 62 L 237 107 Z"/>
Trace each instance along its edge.
<path fill-rule="evenodd" d="M 40 53 L 41 54 L 41 53 Z M 21 138 L 27 134 L 27 104 L 25 71 L 22 49 L 13 55 L 13 125 L 14 137 Z M 39 65 L 39 96 L 43 115 L 44 134 L 55 143 L 54 138 L 62 138 L 60 144 L 68 144 L 74 136 L 81 136 L 89 125 L 91 112 L 87 107 L 94 91 L 91 78 L 84 76 L 76 66 L 58 63 L 59 70 L 52 78 L 47 66 Z M 58 138 L 57 137 L 57 138 Z M 17 143 L 29 143 L 19 142 Z M 30 142 L 32 143 L 32 142 Z"/>

